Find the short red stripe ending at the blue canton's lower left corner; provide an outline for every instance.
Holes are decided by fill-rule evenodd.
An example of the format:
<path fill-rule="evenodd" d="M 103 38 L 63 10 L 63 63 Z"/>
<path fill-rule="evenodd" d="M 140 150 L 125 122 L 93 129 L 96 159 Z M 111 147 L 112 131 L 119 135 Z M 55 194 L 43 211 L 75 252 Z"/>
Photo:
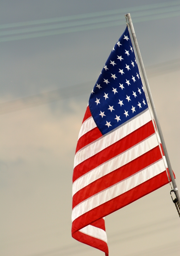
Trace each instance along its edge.
<path fill-rule="evenodd" d="M 86 132 L 84 135 L 82 135 L 78 142 L 77 142 L 77 146 L 76 146 L 76 152 L 81 149 L 82 147 L 85 147 L 86 145 L 88 145 L 89 143 L 97 140 L 98 138 L 100 138 L 102 136 L 101 131 L 98 129 L 98 127 L 95 127 L 94 129 Z"/>

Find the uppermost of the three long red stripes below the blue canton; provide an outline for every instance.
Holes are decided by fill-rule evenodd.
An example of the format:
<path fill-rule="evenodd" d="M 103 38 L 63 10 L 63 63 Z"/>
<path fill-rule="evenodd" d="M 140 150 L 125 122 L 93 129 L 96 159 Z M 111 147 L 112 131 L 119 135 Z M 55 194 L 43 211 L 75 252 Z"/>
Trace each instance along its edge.
<path fill-rule="evenodd" d="M 74 168 L 73 182 L 100 164 L 143 141 L 153 133 L 155 133 L 155 130 L 152 121 L 150 121 L 94 156 L 89 157 Z"/>

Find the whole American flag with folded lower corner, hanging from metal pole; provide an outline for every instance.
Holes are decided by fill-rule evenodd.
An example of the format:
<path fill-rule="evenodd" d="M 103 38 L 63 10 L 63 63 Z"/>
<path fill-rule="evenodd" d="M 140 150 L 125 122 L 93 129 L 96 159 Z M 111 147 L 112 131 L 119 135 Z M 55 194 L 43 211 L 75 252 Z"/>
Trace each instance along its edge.
<path fill-rule="evenodd" d="M 108 255 L 104 216 L 167 184 L 126 27 L 89 98 L 73 170 L 72 236 Z"/>

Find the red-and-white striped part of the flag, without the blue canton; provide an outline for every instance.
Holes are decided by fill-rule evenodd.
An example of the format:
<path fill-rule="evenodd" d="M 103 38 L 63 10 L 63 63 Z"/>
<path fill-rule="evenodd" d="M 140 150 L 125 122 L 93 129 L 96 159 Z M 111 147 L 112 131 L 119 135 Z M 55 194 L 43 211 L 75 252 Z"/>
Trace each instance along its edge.
<path fill-rule="evenodd" d="M 102 136 L 87 107 L 74 160 L 73 238 L 108 255 L 102 217 L 167 183 L 149 109 Z"/>

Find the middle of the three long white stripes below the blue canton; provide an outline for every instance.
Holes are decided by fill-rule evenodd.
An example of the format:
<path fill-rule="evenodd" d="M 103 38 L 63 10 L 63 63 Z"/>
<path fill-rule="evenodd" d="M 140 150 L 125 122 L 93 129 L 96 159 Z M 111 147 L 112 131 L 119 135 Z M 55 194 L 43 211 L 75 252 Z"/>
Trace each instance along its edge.
<path fill-rule="evenodd" d="M 158 140 L 156 134 L 153 134 L 146 140 L 141 141 L 140 143 L 136 144 L 125 152 L 113 157 L 109 161 L 87 172 L 73 182 L 73 195 L 91 182 L 103 177 L 110 172 L 113 172 L 114 170 L 131 162 L 132 160 L 143 155 L 144 153 L 148 152 L 156 146 L 158 146 Z"/>

